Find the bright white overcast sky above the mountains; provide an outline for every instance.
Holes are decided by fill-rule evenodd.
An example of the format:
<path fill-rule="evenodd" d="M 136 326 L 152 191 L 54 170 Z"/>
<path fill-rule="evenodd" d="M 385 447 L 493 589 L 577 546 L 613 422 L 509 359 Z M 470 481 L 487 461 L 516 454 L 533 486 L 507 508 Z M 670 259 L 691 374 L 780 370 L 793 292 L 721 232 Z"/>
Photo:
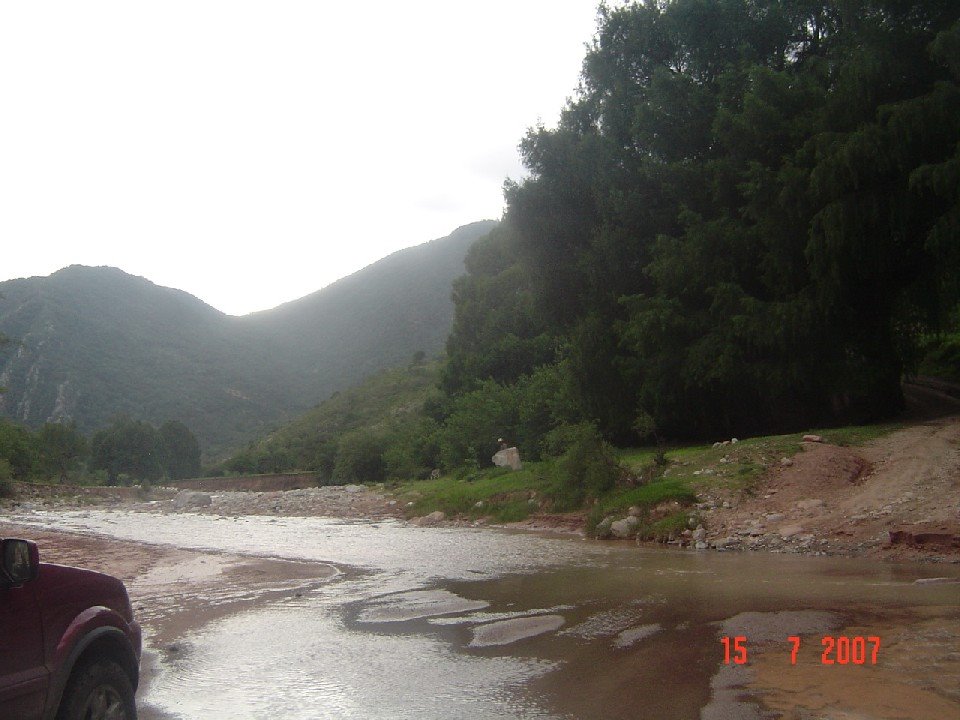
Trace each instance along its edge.
<path fill-rule="evenodd" d="M 0 280 L 111 265 L 232 315 L 503 212 L 598 0 L 0 4 Z"/>

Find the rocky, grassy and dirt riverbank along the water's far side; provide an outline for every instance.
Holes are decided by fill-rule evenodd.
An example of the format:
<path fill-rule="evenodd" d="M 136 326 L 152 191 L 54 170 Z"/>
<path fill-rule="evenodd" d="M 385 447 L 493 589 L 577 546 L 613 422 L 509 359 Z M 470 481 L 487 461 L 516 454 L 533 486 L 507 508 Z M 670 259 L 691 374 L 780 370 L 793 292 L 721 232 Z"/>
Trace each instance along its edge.
<path fill-rule="evenodd" d="M 635 454 L 634 466 L 642 468 L 650 454 Z M 661 479 L 638 490 L 669 484 L 672 492 L 679 489 L 695 502 L 667 497 L 633 508 L 627 507 L 633 496 L 624 494 L 619 506 L 611 503 L 603 511 L 609 524 L 631 515 L 648 523 L 665 518 L 674 524 L 658 541 L 691 550 L 960 562 L 960 415 L 914 418 L 899 427 L 823 431 L 806 439 L 802 434 L 731 439 L 672 450 L 667 460 Z M 21 484 L 18 498 L 3 501 L 0 509 L 122 507 L 221 517 L 392 518 L 419 526 L 494 525 L 584 534 L 589 514 L 553 512 L 549 499 L 533 489 L 536 482 L 525 485 L 509 475 L 491 475 L 481 481 L 407 483 L 393 491 L 347 485 L 216 492 Z M 437 500 L 422 490 L 426 487 L 437 492 Z M 450 511 L 439 499 L 451 496 L 460 497 L 466 509 Z M 498 522 L 486 514 L 490 503 L 474 496 L 506 497 L 508 503 L 519 503 L 526 517 Z M 641 537 L 638 526 L 639 520 L 626 523 L 626 537 L 611 541 L 633 542 Z"/>

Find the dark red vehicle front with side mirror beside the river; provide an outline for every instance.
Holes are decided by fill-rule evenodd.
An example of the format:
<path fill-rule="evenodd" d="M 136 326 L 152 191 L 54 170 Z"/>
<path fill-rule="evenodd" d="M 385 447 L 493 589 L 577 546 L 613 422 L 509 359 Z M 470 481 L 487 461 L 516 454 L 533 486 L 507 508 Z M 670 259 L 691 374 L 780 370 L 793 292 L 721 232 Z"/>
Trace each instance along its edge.
<path fill-rule="evenodd" d="M 122 582 L 0 540 L 0 720 L 135 720 L 140 647 Z"/>

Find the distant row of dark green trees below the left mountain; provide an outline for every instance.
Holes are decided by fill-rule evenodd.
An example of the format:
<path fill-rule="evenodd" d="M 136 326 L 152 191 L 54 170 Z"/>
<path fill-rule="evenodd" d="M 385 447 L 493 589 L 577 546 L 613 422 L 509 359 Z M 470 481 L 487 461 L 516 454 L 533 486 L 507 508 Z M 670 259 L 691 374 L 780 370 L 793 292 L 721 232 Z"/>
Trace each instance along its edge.
<path fill-rule="evenodd" d="M 200 445 L 181 422 L 155 428 L 127 417 L 88 440 L 73 424 L 37 430 L 0 419 L 0 481 L 80 480 L 111 485 L 200 474 Z"/>

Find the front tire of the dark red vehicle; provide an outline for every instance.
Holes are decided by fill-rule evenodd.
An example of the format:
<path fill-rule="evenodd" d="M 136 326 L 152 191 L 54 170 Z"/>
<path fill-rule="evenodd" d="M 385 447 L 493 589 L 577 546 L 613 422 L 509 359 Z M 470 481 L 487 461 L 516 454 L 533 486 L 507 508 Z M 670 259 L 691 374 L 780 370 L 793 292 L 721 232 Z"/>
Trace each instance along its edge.
<path fill-rule="evenodd" d="M 114 662 L 101 660 L 74 670 L 60 701 L 57 720 L 136 720 L 130 678 Z"/>

